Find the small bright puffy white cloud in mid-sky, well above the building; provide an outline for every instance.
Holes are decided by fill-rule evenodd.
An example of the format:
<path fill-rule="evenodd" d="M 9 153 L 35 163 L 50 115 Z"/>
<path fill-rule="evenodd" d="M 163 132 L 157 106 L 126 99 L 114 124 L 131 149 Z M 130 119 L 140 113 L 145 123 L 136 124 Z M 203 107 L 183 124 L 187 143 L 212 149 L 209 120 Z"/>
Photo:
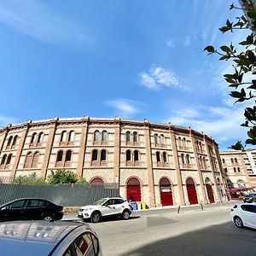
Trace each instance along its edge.
<path fill-rule="evenodd" d="M 185 88 L 175 73 L 163 67 L 151 67 L 149 72 L 139 74 L 140 84 L 149 90 L 160 90 L 163 87 Z"/>

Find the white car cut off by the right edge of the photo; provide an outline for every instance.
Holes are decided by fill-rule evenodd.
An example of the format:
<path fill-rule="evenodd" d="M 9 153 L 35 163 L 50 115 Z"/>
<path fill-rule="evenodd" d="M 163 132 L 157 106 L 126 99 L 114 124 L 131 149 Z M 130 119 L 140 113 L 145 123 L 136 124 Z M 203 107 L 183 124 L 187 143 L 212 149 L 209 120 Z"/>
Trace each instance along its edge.
<path fill-rule="evenodd" d="M 244 226 L 256 229 L 256 205 L 244 203 L 235 205 L 231 209 L 231 219 L 236 224 L 236 227 L 243 228 Z"/>

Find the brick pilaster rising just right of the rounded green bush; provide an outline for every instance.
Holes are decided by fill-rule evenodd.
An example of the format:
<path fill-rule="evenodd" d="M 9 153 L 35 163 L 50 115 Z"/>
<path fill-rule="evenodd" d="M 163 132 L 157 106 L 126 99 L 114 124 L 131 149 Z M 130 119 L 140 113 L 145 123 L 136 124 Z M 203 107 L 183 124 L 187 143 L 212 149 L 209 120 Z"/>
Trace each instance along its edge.
<path fill-rule="evenodd" d="M 78 162 L 78 169 L 77 169 L 78 177 L 83 177 L 84 155 L 85 155 L 85 149 L 87 144 L 88 126 L 90 121 L 89 116 L 85 115 L 83 121 L 84 123 L 82 126 L 80 145 L 79 145 L 79 162 Z"/>

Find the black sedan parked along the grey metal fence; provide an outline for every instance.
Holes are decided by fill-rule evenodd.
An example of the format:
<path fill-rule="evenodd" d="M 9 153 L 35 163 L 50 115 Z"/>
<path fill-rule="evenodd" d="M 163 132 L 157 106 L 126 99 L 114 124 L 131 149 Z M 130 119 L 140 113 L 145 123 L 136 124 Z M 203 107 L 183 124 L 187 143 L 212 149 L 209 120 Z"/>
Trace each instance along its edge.
<path fill-rule="evenodd" d="M 40 198 L 22 198 L 0 206 L 0 221 L 21 219 L 59 220 L 63 207 Z"/>

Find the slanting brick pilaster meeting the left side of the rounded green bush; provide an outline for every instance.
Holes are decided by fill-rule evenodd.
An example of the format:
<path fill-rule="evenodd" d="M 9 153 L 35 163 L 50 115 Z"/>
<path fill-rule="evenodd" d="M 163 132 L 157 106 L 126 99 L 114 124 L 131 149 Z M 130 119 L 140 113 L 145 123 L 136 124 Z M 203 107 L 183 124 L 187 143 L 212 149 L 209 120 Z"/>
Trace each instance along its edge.
<path fill-rule="evenodd" d="M 46 175 L 47 175 L 47 169 L 49 166 L 49 157 L 50 157 L 52 146 L 55 139 L 55 131 L 58 125 L 58 120 L 59 119 L 55 117 L 51 122 L 51 124 L 49 125 L 49 137 L 48 137 L 46 148 L 45 148 L 44 161 L 43 161 L 43 166 L 41 170 L 41 177 L 44 177 L 44 178 L 46 178 Z"/>

